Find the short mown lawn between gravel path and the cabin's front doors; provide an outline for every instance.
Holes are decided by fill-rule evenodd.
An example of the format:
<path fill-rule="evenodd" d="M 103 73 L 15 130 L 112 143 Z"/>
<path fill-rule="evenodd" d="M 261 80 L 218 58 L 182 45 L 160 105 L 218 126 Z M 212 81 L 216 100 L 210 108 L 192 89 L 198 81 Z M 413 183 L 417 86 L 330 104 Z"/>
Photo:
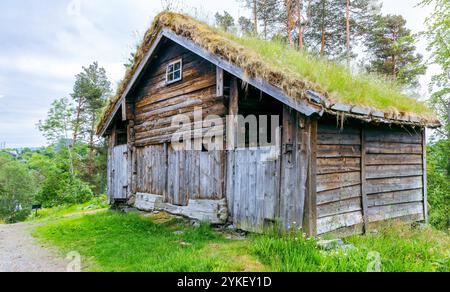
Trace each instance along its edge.
<path fill-rule="evenodd" d="M 184 233 L 175 233 L 180 230 Z M 206 225 L 193 228 L 183 220 L 158 224 L 138 214 L 83 216 L 39 227 L 35 234 L 64 253 L 77 251 L 92 259 L 89 271 L 244 271 L 250 261 L 230 256 L 245 247 Z"/>

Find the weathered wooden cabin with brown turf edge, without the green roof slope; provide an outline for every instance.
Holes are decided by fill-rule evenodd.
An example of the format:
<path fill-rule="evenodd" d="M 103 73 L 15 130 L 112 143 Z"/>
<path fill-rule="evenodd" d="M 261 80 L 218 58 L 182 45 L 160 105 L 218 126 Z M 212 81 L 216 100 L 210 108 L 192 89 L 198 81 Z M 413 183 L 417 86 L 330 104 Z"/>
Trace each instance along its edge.
<path fill-rule="evenodd" d="M 331 102 L 276 79 L 243 50 L 187 16 L 157 17 L 98 127 L 109 146 L 111 203 L 310 235 L 427 219 L 425 128 L 437 121 Z M 180 114 L 192 119 L 194 138 L 236 137 L 245 128 L 238 115 L 278 116 L 271 126 L 279 131 L 270 146 L 177 150 Z M 204 121 L 211 116 L 226 126 Z"/>

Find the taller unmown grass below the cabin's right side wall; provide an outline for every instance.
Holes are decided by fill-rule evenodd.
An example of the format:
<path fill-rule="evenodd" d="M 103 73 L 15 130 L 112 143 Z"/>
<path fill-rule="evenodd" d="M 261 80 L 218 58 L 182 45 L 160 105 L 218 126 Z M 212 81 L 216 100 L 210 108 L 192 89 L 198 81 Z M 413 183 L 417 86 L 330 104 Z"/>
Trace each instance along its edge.
<path fill-rule="evenodd" d="M 283 272 L 378 271 L 374 270 L 378 263 L 382 272 L 450 271 L 450 238 L 432 229 L 396 225 L 345 241 L 356 248 L 330 252 L 317 249 L 314 239 L 260 236 L 252 252 L 272 270 Z"/>

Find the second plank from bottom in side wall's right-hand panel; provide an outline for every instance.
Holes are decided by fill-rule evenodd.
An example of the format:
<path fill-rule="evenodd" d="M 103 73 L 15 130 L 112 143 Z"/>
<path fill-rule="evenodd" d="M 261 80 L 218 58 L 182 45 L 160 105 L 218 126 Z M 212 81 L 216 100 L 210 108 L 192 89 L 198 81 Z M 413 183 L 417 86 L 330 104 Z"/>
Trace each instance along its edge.
<path fill-rule="evenodd" d="M 368 196 L 369 207 L 379 207 L 394 204 L 404 204 L 423 201 L 423 190 L 407 190 L 383 194 L 372 194 Z"/>

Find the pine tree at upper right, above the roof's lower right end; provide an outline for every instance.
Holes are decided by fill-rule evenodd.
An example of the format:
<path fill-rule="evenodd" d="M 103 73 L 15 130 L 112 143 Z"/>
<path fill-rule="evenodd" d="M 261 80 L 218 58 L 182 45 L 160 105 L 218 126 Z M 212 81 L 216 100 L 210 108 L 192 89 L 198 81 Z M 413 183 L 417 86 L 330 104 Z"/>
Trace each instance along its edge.
<path fill-rule="evenodd" d="M 423 57 L 416 54 L 414 36 L 402 16 L 378 16 L 368 37 L 372 60 L 367 70 L 390 77 L 400 84 L 416 87 L 426 72 Z"/>

